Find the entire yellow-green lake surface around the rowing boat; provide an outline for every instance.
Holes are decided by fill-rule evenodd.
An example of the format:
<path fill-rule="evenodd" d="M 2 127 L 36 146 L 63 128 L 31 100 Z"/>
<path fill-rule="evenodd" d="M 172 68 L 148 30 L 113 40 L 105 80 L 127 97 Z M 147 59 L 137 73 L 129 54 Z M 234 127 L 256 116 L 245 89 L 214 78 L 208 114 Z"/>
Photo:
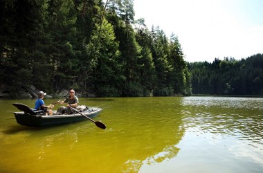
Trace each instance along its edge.
<path fill-rule="evenodd" d="M 0 172 L 263 170 L 263 98 L 80 98 L 103 109 L 105 130 L 21 126 L 13 102 L 35 100 L 0 100 Z"/>

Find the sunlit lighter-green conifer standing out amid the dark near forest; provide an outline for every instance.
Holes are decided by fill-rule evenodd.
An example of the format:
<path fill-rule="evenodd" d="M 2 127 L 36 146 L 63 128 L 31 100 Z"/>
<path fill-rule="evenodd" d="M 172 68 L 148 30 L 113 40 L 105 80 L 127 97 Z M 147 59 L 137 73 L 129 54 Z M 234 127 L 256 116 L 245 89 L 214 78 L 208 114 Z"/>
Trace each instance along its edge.
<path fill-rule="evenodd" d="M 96 32 L 88 45 L 89 50 L 97 50 L 93 71 L 94 91 L 100 96 L 120 96 L 121 84 L 125 78 L 122 75 L 120 51 L 118 51 L 114 28 L 106 19 L 98 28 L 101 28 L 99 42 L 98 32 Z"/>

